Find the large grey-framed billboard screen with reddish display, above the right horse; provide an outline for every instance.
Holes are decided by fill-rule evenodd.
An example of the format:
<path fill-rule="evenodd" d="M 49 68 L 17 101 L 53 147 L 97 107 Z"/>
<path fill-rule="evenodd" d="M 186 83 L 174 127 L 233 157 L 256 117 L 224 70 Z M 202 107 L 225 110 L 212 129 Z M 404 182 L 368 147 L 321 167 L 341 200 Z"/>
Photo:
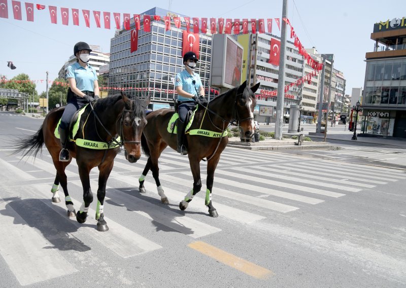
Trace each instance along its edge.
<path fill-rule="evenodd" d="M 243 52 L 243 47 L 230 35 L 213 35 L 211 86 L 233 88 L 241 84 Z"/>

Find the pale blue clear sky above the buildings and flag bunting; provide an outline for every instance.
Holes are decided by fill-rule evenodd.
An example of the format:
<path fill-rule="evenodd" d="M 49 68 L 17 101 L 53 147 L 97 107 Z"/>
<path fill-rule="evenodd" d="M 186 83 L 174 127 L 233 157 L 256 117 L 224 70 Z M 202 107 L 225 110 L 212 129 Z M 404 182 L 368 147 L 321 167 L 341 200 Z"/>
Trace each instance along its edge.
<path fill-rule="evenodd" d="M 34 21 L 26 21 L 25 5 L 21 2 L 22 20 L 14 20 L 11 0 L 8 0 L 9 19 L 0 18 L 0 75 L 12 79 L 25 73 L 30 80 L 49 80 L 58 77 L 62 65 L 73 55 L 73 47 L 79 41 L 101 47 L 110 52 L 110 40 L 115 29 L 105 29 L 103 23 L 97 28 L 91 17 L 90 28 L 84 24 L 80 12 L 80 25 L 73 26 L 72 15 L 68 26 L 62 25 L 60 8 L 72 8 L 118 13 L 141 14 L 153 7 L 198 18 L 282 18 L 282 0 L 234 0 L 198 1 L 58 1 L 42 0 L 45 10 L 35 10 Z M 51 24 L 48 6 L 58 9 L 58 24 Z M 375 42 L 370 39 L 374 23 L 387 19 L 402 18 L 406 11 L 403 1 L 326 1 L 288 0 L 288 18 L 305 48 L 315 47 L 319 53 L 334 54 L 334 68 L 342 71 L 347 80 L 346 94 L 351 89 L 362 87 L 365 76 L 365 53 L 374 50 Z M 163 16 L 163 15 L 161 15 Z M 122 17 L 122 15 L 121 15 Z M 113 27 L 115 24 L 111 23 Z M 172 23 L 173 25 L 173 23 Z M 273 33 L 280 35 L 276 23 Z M 289 39 L 290 33 L 287 33 Z M 293 40 L 292 40 L 293 41 Z M 11 70 L 7 61 L 17 67 Z M 46 90 L 45 81 L 36 83 L 37 91 Z"/>

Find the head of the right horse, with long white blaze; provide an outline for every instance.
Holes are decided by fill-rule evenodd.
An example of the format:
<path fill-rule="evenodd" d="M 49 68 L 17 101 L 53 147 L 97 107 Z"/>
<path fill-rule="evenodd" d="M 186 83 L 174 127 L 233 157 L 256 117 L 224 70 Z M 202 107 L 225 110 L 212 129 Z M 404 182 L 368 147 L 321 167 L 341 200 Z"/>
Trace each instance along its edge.
<path fill-rule="evenodd" d="M 237 88 L 235 99 L 235 120 L 239 122 L 243 135 L 250 139 L 254 134 L 254 108 L 257 103 L 255 91 L 259 83 L 254 86 L 247 86 L 247 81 Z"/>

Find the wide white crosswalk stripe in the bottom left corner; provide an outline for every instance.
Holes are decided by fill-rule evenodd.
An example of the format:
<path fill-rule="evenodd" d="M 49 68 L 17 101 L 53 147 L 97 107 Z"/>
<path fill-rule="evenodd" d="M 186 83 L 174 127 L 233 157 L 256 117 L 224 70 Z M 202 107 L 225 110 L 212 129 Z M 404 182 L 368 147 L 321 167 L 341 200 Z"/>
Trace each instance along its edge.
<path fill-rule="evenodd" d="M 77 270 L 67 262 L 36 229 L 0 200 L 0 254 L 21 285 L 29 285 Z"/>

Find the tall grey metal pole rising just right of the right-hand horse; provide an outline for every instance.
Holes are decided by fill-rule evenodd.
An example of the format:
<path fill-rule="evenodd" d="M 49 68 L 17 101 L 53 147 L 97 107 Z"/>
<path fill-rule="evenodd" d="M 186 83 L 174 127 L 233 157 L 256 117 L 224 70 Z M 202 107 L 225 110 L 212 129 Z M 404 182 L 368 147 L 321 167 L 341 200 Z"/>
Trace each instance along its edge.
<path fill-rule="evenodd" d="M 288 14 L 288 0 L 283 0 L 282 18 L 281 18 L 281 48 L 279 58 L 278 71 L 278 97 L 276 101 L 276 120 L 275 120 L 275 139 L 282 140 L 282 125 L 283 125 L 283 107 L 285 97 L 285 52 L 286 52 L 286 22 Z"/>

